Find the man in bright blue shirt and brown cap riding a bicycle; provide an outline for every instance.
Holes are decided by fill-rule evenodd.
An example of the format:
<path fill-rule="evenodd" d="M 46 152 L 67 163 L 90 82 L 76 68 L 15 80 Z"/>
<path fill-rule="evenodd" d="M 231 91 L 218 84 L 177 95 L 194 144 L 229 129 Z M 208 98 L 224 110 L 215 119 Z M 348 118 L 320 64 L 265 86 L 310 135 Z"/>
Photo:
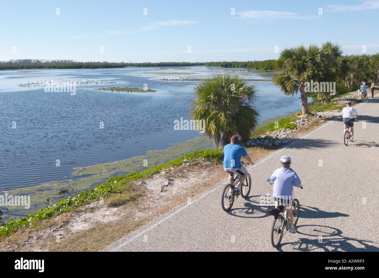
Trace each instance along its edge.
<path fill-rule="evenodd" d="M 241 184 L 247 177 L 247 170 L 241 165 L 241 156 L 246 158 L 250 164 L 254 164 L 254 162 L 251 160 L 246 150 L 237 144 L 238 137 L 233 135 L 230 138 L 230 144 L 227 144 L 224 147 L 224 163 L 222 163 L 222 165 L 224 166 L 224 171 L 229 173 L 229 183 L 233 182 L 233 173 L 240 176 L 240 180 L 234 189 L 236 193 L 240 194 Z"/>

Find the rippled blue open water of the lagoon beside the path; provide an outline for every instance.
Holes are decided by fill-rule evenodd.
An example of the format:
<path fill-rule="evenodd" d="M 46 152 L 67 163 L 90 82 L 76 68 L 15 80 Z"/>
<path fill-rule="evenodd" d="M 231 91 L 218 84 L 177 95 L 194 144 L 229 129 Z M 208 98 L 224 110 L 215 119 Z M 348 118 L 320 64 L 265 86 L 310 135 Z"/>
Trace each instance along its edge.
<path fill-rule="evenodd" d="M 168 73 L 168 74 L 165 74 Z M 0 71 L 0 191 L 38 185 L 68 176 L 74 167 L 117 161 L 162 150 L 202 136 L 174 130 L 174 120 L 190 119 L 195 81 L 161 81 L 162 77 L 205 78 L 239 73 L 244 78 L 271 79 L 272 72 L 216 67 L 156 67 L 82 70 Z M 77 85 L 76 95 L 46 93 L 43 87 L 18 86 L 36 80 L 117 81 Z M 254 104 L 260 120 L 300 109 L 298 97 L 286 97 L 270 81 L 255 82 Z M 156 92 L 118 93 L 99 87 L 139 87 Z M 16 129 L 12 123 L 16 122 Z M 100 122 L 104 128 L 100 129 Z M 56 167 L 56 159 L 60 167 Z"/>

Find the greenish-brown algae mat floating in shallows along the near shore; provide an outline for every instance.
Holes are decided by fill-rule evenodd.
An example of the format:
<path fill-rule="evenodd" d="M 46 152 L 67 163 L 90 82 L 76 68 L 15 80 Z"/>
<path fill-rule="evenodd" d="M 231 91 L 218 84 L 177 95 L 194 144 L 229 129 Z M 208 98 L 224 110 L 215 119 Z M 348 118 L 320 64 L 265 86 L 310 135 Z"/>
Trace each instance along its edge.
<path fill-rule="evenodd" d="M 47 203 L 46 199 L 52 200 L 52 203 L 58 203 L 70 195 L 95 187 L 99 183 L 107 181 L 115 175 L 127 174 L 133 171 L 144 171 L 155 166 L 155 163 L 162 164 L 171 159 L 185 155 L 196 148 L 214 147 L 211 139 L 207 137 L 197 137 L 195 139 L 172 144 L 173 146 L 166 150 L 147 151 L 146 155 L 135 156 L 129 159 L 114 161 L 110 163 L 96 164 L 88 167 L 75 168 L 74 172 L 65 180 L 51 181 L 39 186 L 32 186 L 16 190 L 7 191 L 9 195 L 27 195 L 30 196 L 30 209 L 23 207 L 8 206 L 8 211 L 2 208 L 3 220 L 8 221 L 11 218 L 26 216 L 31 212 L 44 208 Z M 64 184 L 67 192 L 59 194 L 59 187 Z"/>

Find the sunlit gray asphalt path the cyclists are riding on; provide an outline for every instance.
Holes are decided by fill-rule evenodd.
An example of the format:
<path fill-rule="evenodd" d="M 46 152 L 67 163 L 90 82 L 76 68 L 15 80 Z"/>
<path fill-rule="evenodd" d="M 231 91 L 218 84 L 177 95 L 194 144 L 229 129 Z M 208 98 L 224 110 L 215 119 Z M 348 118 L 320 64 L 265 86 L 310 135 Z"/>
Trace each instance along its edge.
<path fill-rule="evenodd" d="M 260 197 L 272 194 L 266 179 L 282 155 L 304 189 L 298 233 L 286 233 L 279 251 L 379 251 L 379 98 L 355 106 L 354 142 L 343 144 L 341 118 L 329 121 L 291 145 L 248 166 L 250 196 L 221 208 L 226 179 L 172 209 L 105 251 L 276 251 L 271 246 L 273 216 Z M 254 160 L 254 158 L 253 158 Z"/>

